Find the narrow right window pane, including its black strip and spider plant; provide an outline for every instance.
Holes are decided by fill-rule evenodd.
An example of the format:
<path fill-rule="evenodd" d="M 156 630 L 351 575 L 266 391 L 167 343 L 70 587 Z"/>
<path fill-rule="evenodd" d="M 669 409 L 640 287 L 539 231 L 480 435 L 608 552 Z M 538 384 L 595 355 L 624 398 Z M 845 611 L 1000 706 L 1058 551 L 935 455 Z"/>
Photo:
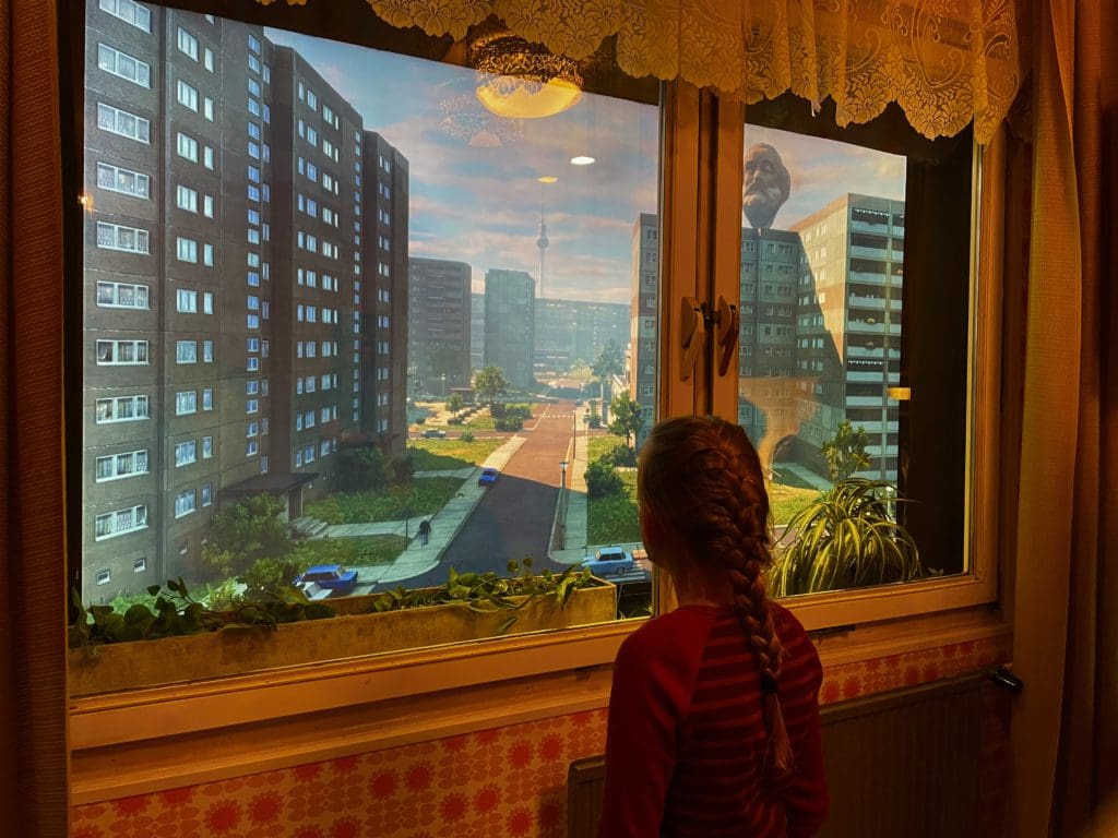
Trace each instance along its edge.
<path fill-rule="evenodd" d="M 918 305 L 921 320 L 941 316 L 915 302 L 939 272 L 918 260 L 906 276 L 909 161 L 751 124 L 743 153 L 738 422 L 770 477 L 773 590 L 808 593 L 965 570 L 961 551 L 941 549 L 961 544 L 961 526 L 953 527 L 961 482 L 936 494 L 917 479 L 961 469 L 961 457 L 945 461 L 946 445 L 934 453 L 912 435 L 909 396 L 927 387 L 927 375 L 911 358 L 942 353 L 949 363 L 966 354 L 966 335 L 908 325 Z M 937 177 L 951 177 L 944 169 Z M 965 266 L 963 276 L 935 282 L 935 307 L 964 321 Z M 965 378 L 960 372 L 964 404 Z M 940 409 L 948 411 L 923 401 L 921 421 L 942 421 L 946 439 Z M 910 532 L 915 506 L 935 510 L 949 535 L 934 541 Z M 841 525 L 840 513 L 849 518 Z"/>

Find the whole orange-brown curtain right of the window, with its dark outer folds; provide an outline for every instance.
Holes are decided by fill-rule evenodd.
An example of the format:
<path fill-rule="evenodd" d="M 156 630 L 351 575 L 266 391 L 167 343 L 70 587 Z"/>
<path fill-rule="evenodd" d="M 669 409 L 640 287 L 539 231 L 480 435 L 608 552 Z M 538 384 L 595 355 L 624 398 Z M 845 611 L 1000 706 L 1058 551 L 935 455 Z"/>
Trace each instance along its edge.
<path fill-rule="evenodd" d="M 1118 791 L 1118 12 L 1035 9 L 1007 834 L 1071 838 Z"/>

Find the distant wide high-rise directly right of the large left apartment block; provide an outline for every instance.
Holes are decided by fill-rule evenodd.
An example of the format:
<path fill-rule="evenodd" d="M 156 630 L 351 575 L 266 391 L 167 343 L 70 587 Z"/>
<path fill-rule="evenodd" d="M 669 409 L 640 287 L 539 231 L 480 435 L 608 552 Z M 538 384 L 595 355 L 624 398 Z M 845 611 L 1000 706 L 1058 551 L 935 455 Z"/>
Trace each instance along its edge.
<path fill-rule="evenodd" d="M 470 384 L 470 280 L 464 261 L 410 260 L 408 364 L 429 392 Z"/>

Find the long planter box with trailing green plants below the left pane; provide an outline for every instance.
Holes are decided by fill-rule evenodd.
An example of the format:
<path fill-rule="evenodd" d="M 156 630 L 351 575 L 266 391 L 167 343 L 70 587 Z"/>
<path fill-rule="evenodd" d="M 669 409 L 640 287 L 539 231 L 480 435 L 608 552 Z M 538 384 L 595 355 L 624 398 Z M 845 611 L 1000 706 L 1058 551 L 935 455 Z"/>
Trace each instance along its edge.
<path fill-rule="evenodd" d="M 183 581 L 149 589 L 151 606 L 107 606 L 69 628 L 73 695 L 239 675 L 386 651 L 565 628 L 616 618 L 615 585 L 572 565 L 561 573 L 509 563 L 509 577 L 457 573 L 438 588 L 307 602 L 294 589 L 228 607 L 196 600 Z M 329 602 L 329 604 L 326 604 Z"/>

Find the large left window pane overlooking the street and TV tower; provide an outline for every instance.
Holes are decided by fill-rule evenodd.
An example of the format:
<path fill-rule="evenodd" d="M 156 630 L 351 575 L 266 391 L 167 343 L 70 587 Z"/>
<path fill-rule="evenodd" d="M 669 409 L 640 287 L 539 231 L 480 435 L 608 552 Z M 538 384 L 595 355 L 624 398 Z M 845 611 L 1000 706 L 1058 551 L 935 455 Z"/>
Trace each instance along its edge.
<path fill-rule="evenodd" d="M 86 15 L 102 31 L 108 12 Z M 633 464 L 656 387 L 655 84 L 508 118 L 471 69 L 233 20 L 222 44 L 239 46 L 210 53 L 198 15 L 150 15 L 173 38 L 151 68 L 170 95 L 143 128 L 98 108 L 85 137 L 114 161 L 98 188 L 133 197 L 95 204 L 85 254 L 102 305 L 85 314 L 84 597 L 104 597 L 101 569 L 114 594 L 226 581 L 203 544 L 224 550 L 217 518 L 262 497 L 294 531 L 267 558 L 358 571 L 335 597 L 452 569 L 581 572 L 604 550 L 594 573 L 623 585 L 623 613 L 646 612 Z M 152 54 L 150 35 L 119 29 L 119 54 Z M 260 84 L 264 65 L 284 78 Z M 200 102 L 220 132 L 199 133 Z M 152 130 L 150 145 L 110 134 Z M 172 199 L 122 215 L 149 194 Z M 127 479 L 98 484 L 101 458 L 140 450 L 143 468 L 133 456 Z M 613 598 L 594 619 L 616 617 Z"/>

